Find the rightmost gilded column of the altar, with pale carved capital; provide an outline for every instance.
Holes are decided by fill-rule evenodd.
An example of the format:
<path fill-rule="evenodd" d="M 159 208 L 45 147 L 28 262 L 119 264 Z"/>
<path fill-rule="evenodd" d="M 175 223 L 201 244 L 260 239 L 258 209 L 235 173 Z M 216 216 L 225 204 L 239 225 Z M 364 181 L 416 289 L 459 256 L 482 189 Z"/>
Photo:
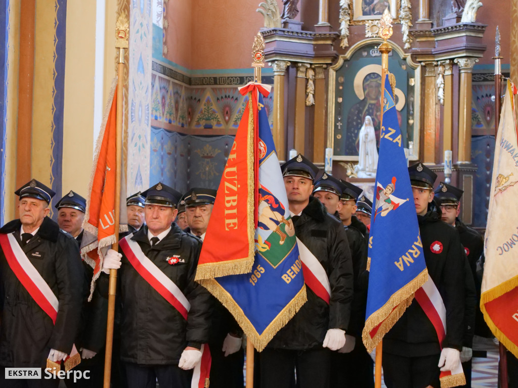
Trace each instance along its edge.
<path fill-rule="evenodd" d="M 471 73 L 477 58 L 455 58 L 461 75 L 458 107 L 458 162 L 471 163 Z"/>

